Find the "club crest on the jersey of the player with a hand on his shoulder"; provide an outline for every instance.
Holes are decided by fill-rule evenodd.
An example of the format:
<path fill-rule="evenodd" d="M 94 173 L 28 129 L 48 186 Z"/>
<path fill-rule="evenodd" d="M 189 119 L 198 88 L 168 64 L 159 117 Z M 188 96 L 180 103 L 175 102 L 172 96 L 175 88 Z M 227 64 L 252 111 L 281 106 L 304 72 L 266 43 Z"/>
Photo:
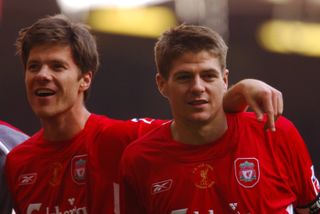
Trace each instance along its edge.
<path fill-rule="evenodd" d="M 234 167 L 236 179 L 241 186 L 251 188 L 258 183 L 260 168 L 256 158 L 237 158 Z"/>

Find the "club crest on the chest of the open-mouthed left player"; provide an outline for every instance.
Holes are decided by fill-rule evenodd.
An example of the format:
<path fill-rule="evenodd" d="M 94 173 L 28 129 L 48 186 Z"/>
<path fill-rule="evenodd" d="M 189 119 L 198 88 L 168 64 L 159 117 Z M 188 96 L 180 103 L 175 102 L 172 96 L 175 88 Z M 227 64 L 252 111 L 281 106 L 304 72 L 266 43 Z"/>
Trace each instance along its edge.
<path fill-rule="evenodd" d="M 84 184 L 87 178 L 87 155 L 77 155 L 72 158 L 72 179 L 77 184 Z"/>

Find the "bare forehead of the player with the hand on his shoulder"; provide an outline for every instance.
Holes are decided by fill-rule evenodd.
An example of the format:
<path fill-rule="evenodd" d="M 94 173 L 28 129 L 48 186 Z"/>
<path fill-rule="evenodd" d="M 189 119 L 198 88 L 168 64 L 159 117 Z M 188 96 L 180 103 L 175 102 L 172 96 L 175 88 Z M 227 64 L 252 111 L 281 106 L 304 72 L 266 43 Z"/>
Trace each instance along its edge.
<path fill-rule="evenodd" d="M 221 63 L 218 57 L 209 51 L 186 52 L 172 61 L 170 73 L 194 70 L 221 72 Z"/>

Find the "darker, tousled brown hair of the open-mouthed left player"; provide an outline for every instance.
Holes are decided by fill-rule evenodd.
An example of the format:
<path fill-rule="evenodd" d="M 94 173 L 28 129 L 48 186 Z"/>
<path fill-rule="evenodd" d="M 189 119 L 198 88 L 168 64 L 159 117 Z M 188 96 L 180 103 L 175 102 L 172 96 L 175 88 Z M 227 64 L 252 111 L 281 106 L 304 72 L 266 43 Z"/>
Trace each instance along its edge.
<path fill-rule="evenodd" d="M 89 27 L 74 23 L 62 14 L 39 19 L 33 25 L 19 31 L 16 50 L 24 68 L 26 68 L 31 49 L 44 44 L 68 45 L 81 73 L 91 71 L 94 76 L 99 68 L 97 44 Z M 86 96 L 87 92 L 85 92 Z"/>

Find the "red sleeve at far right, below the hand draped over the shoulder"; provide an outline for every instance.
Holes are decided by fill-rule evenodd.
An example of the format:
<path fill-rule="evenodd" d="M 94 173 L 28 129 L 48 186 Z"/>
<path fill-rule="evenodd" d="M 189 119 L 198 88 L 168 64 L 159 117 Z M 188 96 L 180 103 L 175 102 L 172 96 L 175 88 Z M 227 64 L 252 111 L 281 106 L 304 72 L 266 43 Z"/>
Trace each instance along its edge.
<path fill-rule="evenodd" d="M 279 143 L 280 157 L 283 157 L 283 170 L 291 189 L 296 195 L 295 207 L 311 209 L 317 202 L 320 192 L 319 182 L 313 170 L 312 161 L 307 147 L 295 126 L 285 118 L 279 121 L 280 129 L 286 130 L 274 133 L 274 140 Z M 286 139 L 279 142 L 277 139 Z M 283 145 L 285 144 L 285 145 Z"/>

